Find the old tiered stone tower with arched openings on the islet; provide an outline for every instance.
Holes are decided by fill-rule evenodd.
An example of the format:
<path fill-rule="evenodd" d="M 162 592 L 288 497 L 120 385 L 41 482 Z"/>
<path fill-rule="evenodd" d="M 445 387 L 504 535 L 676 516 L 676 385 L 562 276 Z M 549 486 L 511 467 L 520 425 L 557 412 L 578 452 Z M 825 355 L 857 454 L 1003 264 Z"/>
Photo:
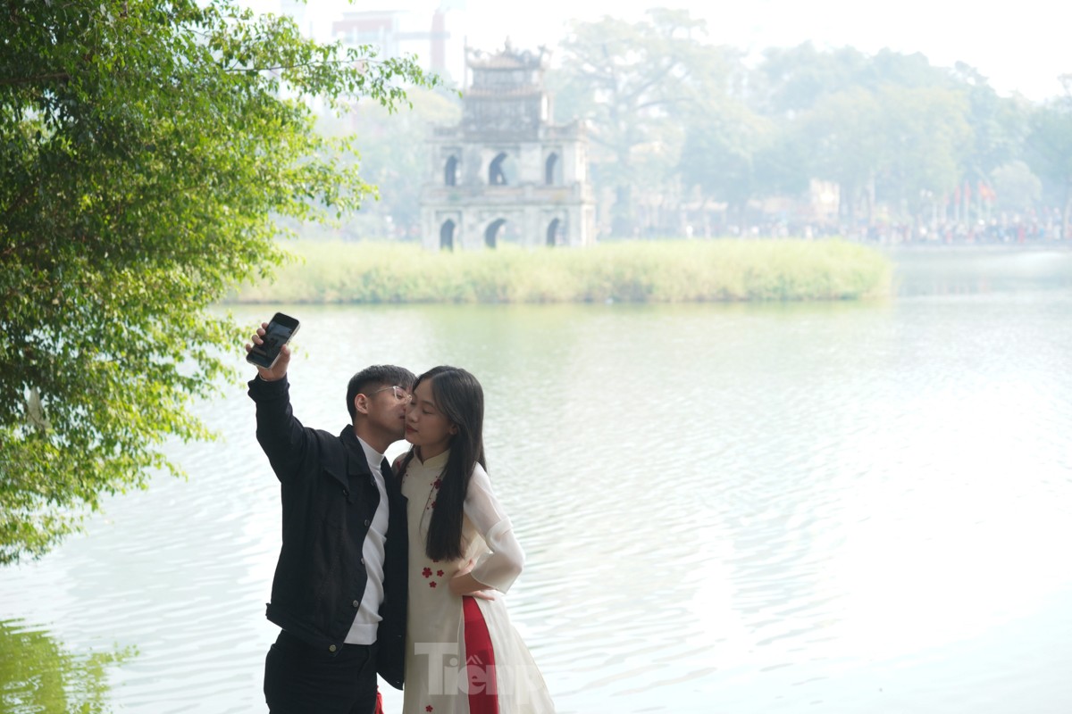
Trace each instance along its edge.
<path fill-rule="evenodd" d="M 462 121 L 436 126 L 421 191 L 429 249 L 595 243 L 584 124 L 551 123 L 548 52 L 471 50 Z"/>

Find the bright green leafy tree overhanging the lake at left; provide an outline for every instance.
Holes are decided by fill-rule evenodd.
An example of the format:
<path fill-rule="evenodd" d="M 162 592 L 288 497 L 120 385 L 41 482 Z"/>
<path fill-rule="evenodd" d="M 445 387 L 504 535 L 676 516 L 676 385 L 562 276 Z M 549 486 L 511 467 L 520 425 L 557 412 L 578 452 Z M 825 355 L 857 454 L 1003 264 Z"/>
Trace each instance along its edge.
<path fill-rule="evenodd" d="M 208 436 L 188 406 L 238 341 L 208 306 L 281 260 L 277 219 L 369 192 L 302 98 L 435 83 L 234 0 L 4 3 L 0 563 L 177 472 L 160 444 Z"/>

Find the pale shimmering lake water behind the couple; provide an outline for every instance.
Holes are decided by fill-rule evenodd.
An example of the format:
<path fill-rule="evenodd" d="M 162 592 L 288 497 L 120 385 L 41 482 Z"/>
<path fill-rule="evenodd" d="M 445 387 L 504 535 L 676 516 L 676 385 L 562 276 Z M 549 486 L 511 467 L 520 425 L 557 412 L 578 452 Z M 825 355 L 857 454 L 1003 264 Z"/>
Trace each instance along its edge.
<path fill-rule="evenodd" d="M 894 256 L 883 302 L 283 306 L 295 410 L 340 429 L 370 363 L 479 377 L 560 712 L 1066 714 L 1072 252 Z M 189 481 L 2 571 L 2 711 L 266 711 L 278 489 L 243 390 L 200 411 Z"/>

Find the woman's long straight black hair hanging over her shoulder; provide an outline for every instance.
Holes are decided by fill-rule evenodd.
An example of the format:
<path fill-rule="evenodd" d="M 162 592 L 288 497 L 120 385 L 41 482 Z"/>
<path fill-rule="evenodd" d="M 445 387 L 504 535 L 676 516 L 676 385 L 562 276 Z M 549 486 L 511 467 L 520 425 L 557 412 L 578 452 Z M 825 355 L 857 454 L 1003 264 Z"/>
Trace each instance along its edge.
<path fill-rule="evenodd" d="M 450 561 L 462 557 L 462 516 L 473 469 L 477 464 L 487 468 L 483 460 L 483 389 L 470 373 L 447 365 L 432 367 L 418 377 L 413 384 L 414 391 L 426 380 L 432 384 L 440 412 L 458 427 L 458 434 L 450 438 L 450 455 L 440 475 L 442 483 L 435 495 L 425 544 L 429 558 Z M 411 449 L 402 461 L 401 473 L 413 457 Z"/>

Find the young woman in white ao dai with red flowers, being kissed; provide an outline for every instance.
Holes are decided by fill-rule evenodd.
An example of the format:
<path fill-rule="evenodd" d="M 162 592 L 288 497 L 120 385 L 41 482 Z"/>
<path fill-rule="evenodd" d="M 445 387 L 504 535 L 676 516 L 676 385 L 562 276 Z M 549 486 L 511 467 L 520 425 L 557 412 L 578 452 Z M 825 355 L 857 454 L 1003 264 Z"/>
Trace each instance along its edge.
<path fill-rule="evenodd" d="M 410 521 L 404 714 L 553 712 L 494 592 L 524 553 L 485 471 L 480 383 L 447 366 L 418 377 L 405 438 L 394 469 Z"/>

